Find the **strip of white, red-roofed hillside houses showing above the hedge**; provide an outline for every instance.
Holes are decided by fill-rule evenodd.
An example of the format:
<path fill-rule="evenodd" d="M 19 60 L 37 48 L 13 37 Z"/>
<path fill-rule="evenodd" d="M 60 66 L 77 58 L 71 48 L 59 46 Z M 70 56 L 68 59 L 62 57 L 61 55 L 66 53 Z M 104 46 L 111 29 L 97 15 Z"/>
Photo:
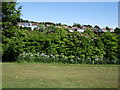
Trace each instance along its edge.
<path fill-rule="evenodd" d="M 56 28 L 65 28 L 68 29 L 69 32 L 74 32 L 74 31 L 78 31 L 78 32 L 84 32 L 87 28 L 92 28 L 94 33 L 102 33 L 102 32 L 114 32 L 113 28 L 109 28 L 109 30 L 106 30 L 106 28 L 99 28 L 97 25 L 93 28 L 90 27 L 90 25 L 82 25 L 80 27 L 77 26 L 69 26 L 66 24 L 54 24 L 54 23 L 50 23 L 50 22 L 45 22 L 45 23 L 37 23 L 37 22 L 19 22 L 18 26 L 20 27 L 29 27 L 31 28 L 31 30 L 33 31 L 35 28 L 40 29 L 40 26 L 42 25 L 42 27 L 47 28 L 49 26 L 55 26 Z"/>

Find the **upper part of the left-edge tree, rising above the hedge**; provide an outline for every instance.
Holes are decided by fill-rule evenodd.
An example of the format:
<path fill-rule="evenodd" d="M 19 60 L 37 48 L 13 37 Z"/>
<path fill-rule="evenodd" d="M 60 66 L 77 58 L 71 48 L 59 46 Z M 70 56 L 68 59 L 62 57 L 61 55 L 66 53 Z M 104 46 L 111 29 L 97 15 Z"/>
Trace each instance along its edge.
<path fill-rule="evenodd" d="M 2 27 L 7 29 L 11 26 L 17 26 L 20 20 L 21 6 L 16 8 L 16 2 L 2 2 Z"/>

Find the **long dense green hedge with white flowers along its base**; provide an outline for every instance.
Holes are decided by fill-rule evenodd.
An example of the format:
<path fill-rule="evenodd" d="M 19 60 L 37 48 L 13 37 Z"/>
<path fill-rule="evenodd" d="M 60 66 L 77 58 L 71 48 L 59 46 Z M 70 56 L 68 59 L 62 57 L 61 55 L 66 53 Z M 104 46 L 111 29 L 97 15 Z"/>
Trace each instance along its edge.
<path fill-rule="evenodd" d="M 120 36 L 116 33 L 70 33 L 55 28 L 54 32 L 11 28 L 3 30 L 3 61 L 43 63 L 119 64 Z"/>

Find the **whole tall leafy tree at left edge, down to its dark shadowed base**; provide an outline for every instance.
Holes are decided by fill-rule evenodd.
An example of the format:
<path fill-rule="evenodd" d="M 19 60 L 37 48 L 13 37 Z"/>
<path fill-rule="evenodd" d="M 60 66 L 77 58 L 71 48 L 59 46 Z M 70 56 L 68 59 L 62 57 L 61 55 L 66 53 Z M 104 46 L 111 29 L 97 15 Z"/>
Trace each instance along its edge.
<path fill-rule="evenodd" d="M 15 60 L 19 54 L 18 41 L 21 39 L 21 30 L 16 28 L 20 21 L 21 6 L 16 2 L 2 2 L 2 58 L 3 61 Z M 20 42 L 21 45 L 21 42 Z"/>

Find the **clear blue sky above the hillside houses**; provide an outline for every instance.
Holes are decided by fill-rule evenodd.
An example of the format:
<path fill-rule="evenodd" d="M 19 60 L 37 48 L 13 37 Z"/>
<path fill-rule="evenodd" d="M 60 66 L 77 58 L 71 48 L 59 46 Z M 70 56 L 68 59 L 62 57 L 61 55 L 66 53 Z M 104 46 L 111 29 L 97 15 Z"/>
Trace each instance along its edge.
<path fill-rule="evenodd" d="M 18 2 L 22 19 L 118 27 L 118 2 Z"/>

